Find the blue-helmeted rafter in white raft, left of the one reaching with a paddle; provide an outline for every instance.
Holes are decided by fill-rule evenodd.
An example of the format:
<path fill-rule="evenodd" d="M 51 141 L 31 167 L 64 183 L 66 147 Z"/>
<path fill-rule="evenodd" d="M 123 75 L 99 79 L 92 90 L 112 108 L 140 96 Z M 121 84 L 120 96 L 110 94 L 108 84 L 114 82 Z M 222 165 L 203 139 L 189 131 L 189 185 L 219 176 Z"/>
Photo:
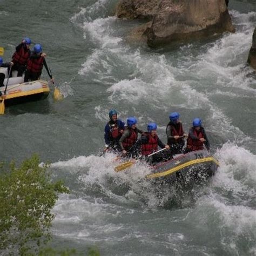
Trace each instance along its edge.
<path fill-rule="evenodd" d="M 30 49 L 29 49 L 30 44 L 31 44 L 31 39 L 28 37 L 25 37 L 22 39 L 21 44 L 16 46 L 16 51 L 14 55 L 12 55 L 12 62 L 14 63 L 14 66 L 12 66 L 10 77 L 12 77 L 12 71 L 14 70 L 18 71 L 17 77 L 22 77 L 30 56 Z M 8 73 L 9 71 L 10 71 L 10 67 L 8 67 Z"/>

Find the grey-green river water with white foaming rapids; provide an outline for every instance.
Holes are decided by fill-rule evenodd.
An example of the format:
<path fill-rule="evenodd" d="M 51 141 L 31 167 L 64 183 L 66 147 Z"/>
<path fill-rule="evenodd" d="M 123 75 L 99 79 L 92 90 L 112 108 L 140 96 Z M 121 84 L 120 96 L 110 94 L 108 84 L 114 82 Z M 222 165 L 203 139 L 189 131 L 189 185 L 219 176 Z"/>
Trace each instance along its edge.
<path fill-rule="evenodd" d="M 52 246 L 102 255 L 255 255 L 255 89 L 245 65 L 256 25 L 255 0 L 230 1 L 236 32 L 204 42 L 150 49 L 130 43 L 138 22 L 113 17 L 116 0 L 0 1 L 1 47 L 10 59 L 22 37 L 41 43 L 65 96 L 6 108 L 1 160 L 38 153 L 71 189 L 53 212 Z M 48 79 L 44 71 L 43 77 Z M 157 122 L 166 142 L 169 113 L 185 130 L 201 117 L 219 171 L 189 190 L 143 179 L 141 164 L 113 171 L 99 157 L 111 108 Z"/>

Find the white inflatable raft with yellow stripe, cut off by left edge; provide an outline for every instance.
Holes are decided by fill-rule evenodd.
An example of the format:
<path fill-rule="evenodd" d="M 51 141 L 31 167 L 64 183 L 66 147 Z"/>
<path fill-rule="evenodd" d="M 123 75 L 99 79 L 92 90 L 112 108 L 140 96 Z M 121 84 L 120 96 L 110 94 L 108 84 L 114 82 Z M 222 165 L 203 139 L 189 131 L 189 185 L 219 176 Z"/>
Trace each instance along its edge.
<path fill-rule="evenodd" d="M 8 77 L 7 68 L 0 68 L 0 72 Z M 15 71 L 13 72 L 15 74 Z M 6 85 L 7 78 L 4 79 Z M 0 91 L 4 94 L 5 86 L 0 87 Z M 36 80 L 24 83 L 24 77 L 9 78 L 6 98 L 4 100 L 5 106 L 20 104 L 35 100 L 41 100 L 48 97 L 50 88 L 48 82 L 44 80 Z"/>

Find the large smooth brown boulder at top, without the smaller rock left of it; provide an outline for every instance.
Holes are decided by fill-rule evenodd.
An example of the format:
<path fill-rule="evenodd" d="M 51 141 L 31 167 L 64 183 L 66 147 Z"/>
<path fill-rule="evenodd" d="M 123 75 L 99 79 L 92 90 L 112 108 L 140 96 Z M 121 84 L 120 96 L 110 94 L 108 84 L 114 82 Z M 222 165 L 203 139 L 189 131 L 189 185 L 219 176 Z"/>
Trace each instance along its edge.
<path fill-rule="evenodd" d="M 162 0 L 145 31 L 151 46 L 234 32 L 225 0 Z"/>

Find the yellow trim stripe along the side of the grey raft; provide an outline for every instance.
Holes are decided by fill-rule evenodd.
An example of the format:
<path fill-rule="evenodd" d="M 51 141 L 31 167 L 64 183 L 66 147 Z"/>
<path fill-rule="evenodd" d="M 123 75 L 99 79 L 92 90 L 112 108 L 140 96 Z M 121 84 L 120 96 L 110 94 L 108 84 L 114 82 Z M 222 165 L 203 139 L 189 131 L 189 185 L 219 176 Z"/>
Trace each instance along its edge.
<path fill-rule="evenodd" d="M 219 162 L 214 159 L 213 157 L 206 157 L 206 158 L 199 158 L 199 159 L 194 159 L 194 160 L 191 160 L 191 161 L 188 161 L 187 163 L 185 164 L 181 164 L 179 166 L 176 166 L 170 170 L 167 170 L 165 172 L 158 172 L 158 173 L 152 173 L 152 174 L 148 174 L 146 176 L 146 178 L 158 178 L 158 177 L 163 177 L 163 176 L 166 176 L 168 174 L 172 174 L 173 172 L 177 172 L 187 166 L 190 166 L 190 165 L 193 165 L 193 164 L 200 164 L 200 163 L 205 163 L 205 162 L 208 162 L 208 161 L 213 161 L 215 164 L 217 164 L 219 166 Z"/>

